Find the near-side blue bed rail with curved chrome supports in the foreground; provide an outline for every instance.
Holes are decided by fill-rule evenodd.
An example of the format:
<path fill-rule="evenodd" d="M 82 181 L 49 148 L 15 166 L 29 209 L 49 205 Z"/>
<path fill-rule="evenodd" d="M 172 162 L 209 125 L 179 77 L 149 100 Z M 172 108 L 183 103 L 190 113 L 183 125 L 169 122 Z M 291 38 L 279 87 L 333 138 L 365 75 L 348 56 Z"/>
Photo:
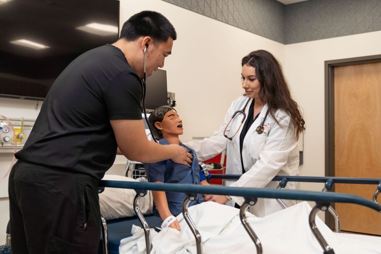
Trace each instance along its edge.
<path fill-rule="evenodd" d="M 364 198 L 355 195 L 347 195 L 340 193 L 321 193 L 321 192 L 311 192 L 311 191 L 301 191 L 301 190 L 289 190 L 289 189 L 267 189 L 267 188 L 247 188 L 247 187 L 225 187 L 225 186 L 202 186 L 202 185 L 192 185 L 192 184 L 178 184 L 178 183 L 150 183 L 150 182 L 125 182 L 125 181 L 110 181 L 102 180 L 100 183 L 101 187 L 113 187 L 113 188 L 131 188 L 136 190 L 136 196 L 144 196 L 147 190 L 160 190 L 164 192 L 181 192 L 186 194 L 186 198 L 183 203 L 182 213 L 184 218 L 187 217 L 186 222 L 190 229 L 192 230 L 197 244 L 197 253 L 202 253 L 201 246 L 201 235 L 195 224 L 187 213 L 187 205 L 189 200 L 192 200 L 196 194 L 214 194 L 214 195 L 230 195 L 230 196 L 240 196 L 244 197 L 245 201 L 241 206 L 240 218 L 243 227 L 249 234 L 253 243 L 256 246 L 257 253 L 263 253 L 263 248 L 261 241 L 255 234 L 253 229 L 246 221 L 245 208 L 250 205 L 255 205 L 257 198 L 271 198 L 271 199 L 290 199 L 290 200 L 306 200 L 314 201 L 316 205 L 312 208 L 309 215 L 309 225 L 311 231 L 317 241 L 321 244 L 323 248 L 323 253 L 334 253 L 333 249 L 329 246 L 327 241 L 324 239 L 319 229 L 317 229 L 315 224 L 315 215 L 318 210 L 327 210 L 331 202 L 339 203 L 353 203 L 358 205 L 363 205 L 369 207 L 373 210 L 381 212 L 381 206 Z M 138 206 L 138 202 L 134 204 Z M 145 228 L 146 221 L 143 215 L 139 215 L 139 209 L 135 209 L 137 216 Z M 146 251 L 150 252 L 151 243 L 149 241 L 149 231 L 145 230 L 146 236 Z"/>

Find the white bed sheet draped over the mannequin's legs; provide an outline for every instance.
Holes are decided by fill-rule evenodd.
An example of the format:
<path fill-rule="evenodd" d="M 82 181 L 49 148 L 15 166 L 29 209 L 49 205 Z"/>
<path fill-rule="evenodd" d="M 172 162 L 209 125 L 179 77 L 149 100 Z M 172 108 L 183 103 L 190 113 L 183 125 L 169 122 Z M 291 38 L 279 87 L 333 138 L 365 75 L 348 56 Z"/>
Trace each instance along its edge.
<path fill-rule="evenodd" d="M 248 212 L 246 216 L 266 254 L 323 253 L 308 225 L 310 210 L 308 203 L 302 202 L 263 218 L 255 217 Z M 241 225 L 238 209 L 214 202 L 204 202 L 190 207 L 188 211 L 201 233 L 204 253 L 256 252 L 255 245 Z M 151 253 L 197 253 L 195 237 L 182 214 L 178 215 L 177 219 L 181 232 L 172 228 L 166 228 L 160 233 L 151 230 Z M 318 217 L 316 225 L 336 254 L 381 253 L 381 244 L 376 241 L 364 241 L 364 238 L 359 237 L 354 240 L 347 234 L 338 235 Z M 121 240 L 119 253 L 145 253 L 143 230 L 140 227 L 133 227 L 132 233 L 132 237 Z"/>

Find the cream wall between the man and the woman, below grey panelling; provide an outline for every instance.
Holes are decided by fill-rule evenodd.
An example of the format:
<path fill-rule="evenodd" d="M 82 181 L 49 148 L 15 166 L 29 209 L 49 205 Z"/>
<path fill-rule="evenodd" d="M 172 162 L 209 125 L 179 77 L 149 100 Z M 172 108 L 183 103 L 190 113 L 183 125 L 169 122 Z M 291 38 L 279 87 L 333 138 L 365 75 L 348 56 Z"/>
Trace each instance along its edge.
<path fill-rule="evenodd" d="M 182 141 L 211 136 L 219 128 L 231 102 L 243 93 L 243 56 L 266 49 L 284 61 L 280 43 L 160 0 L 121 0 L 120 24 L 143 10 L 162 13 L 177 31 L 163 69 L 168 90 L 176 93 L 176 109 L 184 125 Z"/>

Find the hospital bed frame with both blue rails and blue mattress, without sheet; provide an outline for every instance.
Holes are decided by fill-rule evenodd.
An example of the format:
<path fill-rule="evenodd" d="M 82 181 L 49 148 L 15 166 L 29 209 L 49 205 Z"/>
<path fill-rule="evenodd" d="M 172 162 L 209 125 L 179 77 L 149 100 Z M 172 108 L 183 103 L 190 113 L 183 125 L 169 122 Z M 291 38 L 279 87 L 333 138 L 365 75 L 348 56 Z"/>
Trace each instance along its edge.
<path fill-rule="evenodd" d="M 213 175 L 213 178 L 219 179 L 237 179 L 236 175 Z M 310 229 L 320 243 L 323 253 L 334 253 L 334 250 L 330 247 L 329 243 L 325 240 L 324 236 L 320 233 L 315 224 L 315 216 L 319 210 L 329 210 L 330 204 L 333 202 L 339 203 L 353 203 L 369 207 L 373 210 L 381 212 L 381 206 L 377 204 L 376 198 L 381 191 L 381 179 L 362 179 L 362 178 L 338 178 L 338 177 L 291 177 L 291 176 L 276 176 L 274 181 L 279 181 L 278 188 L 284 187 L 289 181 L 297 182 L 323 182 L 326 189 L 331 189 L 334 183 L 362 183 L 362 184 L 377 184 L 377 190 L 373 195 L 374 202 L 347 194 L 339 193 L 320 193 L 301 190 L 288 190 L 288 189 L 265 189 L 265 188 L 244 188 L 244 187 L 224 187 L 224 186 L 201 186 L 201 185 L 189 185 L 189 184 L 166 184 L 166 183 L 146 183 L 146 182 L 124 182 L 124 181 L 101 181 L 102 187 L 113 188 L 130 188 L 136 190 L 136 197 L 134 200 L 134 209 L 137 217 L 124 218 L 114 221 L 103 221 L 103 251 L 104 253 L 118 253 L 119 243 L 122 238 L 131 236 L 132 225 L 141 225 L 144 229 L 146 239 L 146 250 L 149 253 L 151 249 L 151 240 L 149 235 L 149 228 L 157 226 L 161 219 L 152 215 L 146 217 L 139 210 L 139 199 L 143 197 L 147 190 L 162 190 L 165 192 L 182 192 L 186 194 L 186 199 L 183 203 L 183 215 L 187 225 L 194 234 L 197 253 L 202 253 L 201 235 L 197 230 L 197 227 L 190 218 L 187 207 L 191 200 L 194 199 L 196 194 L 215 194 L 215 195 L 230 195 L 241 196 L 245 198 L 245 203 L 240 209 L 240 219 L 243 227 L 251 240 L 256 246 L 257 253 L 266 253 L 266 249 L 262 248 L 260 239 L 255 233 L 255 229 L 252 229 L 247 223 L 245 210 L 247 207 L 255 205 L 257 198 L 272 198 L 277 199 L 278 203 L 282 205 L 282 199 L 288 200 L 301 200 L 301 201 L 314 201 L 315 206 L 312 208 L 309 214 L 309 226 Z M 284 204 L 284 203 L 283 203 Z M 307 218 L 306 218 L 307 219 Z M 116 233 L 114 231 L 117 231 Z M 106 248 L 108 246 L 108 248 Z"/>

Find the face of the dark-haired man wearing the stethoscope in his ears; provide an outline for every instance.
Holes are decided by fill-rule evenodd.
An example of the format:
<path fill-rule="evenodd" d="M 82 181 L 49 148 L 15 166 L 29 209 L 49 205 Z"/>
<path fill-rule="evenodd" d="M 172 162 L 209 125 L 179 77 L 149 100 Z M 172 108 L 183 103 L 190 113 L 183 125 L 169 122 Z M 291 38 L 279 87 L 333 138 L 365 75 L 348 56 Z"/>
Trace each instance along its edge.
<path fill-rule="evenodd" d="M 173 39 L 170 37 L 166 42 L 149 43 L 146 49 L 146 75 L 152 75 L 157 68 L 164 67 L 164 60 L 171 54 Z"/>

